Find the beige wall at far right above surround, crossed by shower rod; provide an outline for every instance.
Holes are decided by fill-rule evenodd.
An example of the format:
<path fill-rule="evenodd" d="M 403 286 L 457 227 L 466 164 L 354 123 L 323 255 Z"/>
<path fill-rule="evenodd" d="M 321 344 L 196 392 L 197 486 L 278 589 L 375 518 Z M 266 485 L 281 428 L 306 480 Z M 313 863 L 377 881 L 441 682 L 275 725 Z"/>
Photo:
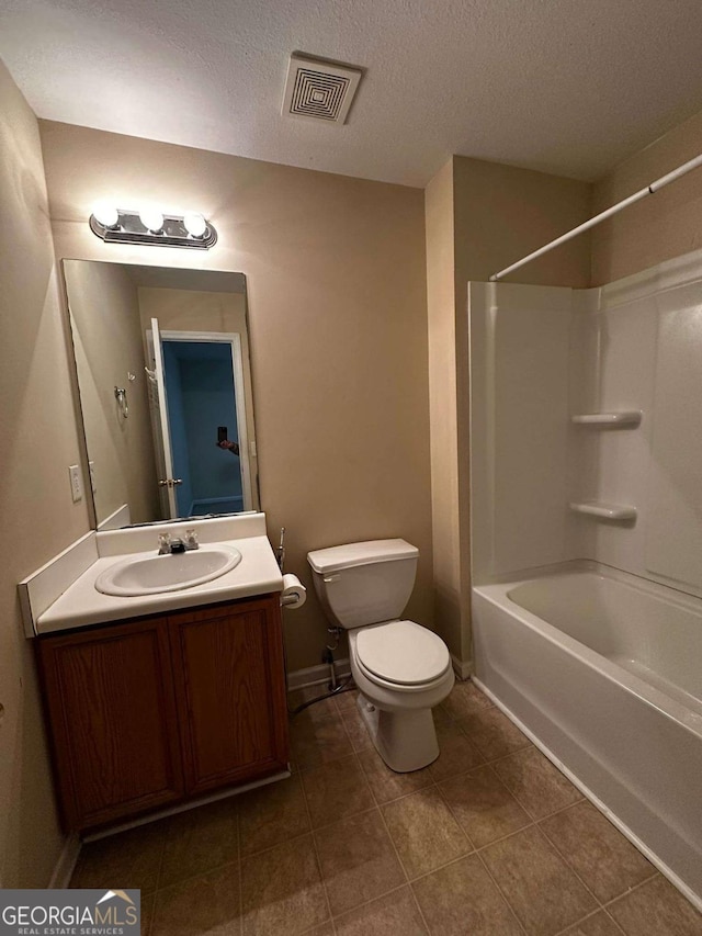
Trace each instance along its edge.
<path fill-rule="evenodd" d="M 702 153 L 702 112 L 618 166 L 595 185 L 593 213 Z M 702 169 L 592 229 L 593 286 L 702 247 Z"/>

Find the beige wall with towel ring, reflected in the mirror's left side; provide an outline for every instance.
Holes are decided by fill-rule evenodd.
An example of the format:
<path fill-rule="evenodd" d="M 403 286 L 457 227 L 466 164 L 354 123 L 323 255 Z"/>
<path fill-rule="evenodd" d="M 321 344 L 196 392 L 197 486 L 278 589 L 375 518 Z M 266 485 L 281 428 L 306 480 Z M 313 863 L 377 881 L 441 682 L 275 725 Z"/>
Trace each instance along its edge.
<path fill-rule="evenodd" d="M 69 261 L 64 272 L 98 522 L 123 504 L 133 523 L 154 520 L 158 488 L 136 286 L 111 263 Z M 126 419 L 115 386 L 126 390 Z"/>

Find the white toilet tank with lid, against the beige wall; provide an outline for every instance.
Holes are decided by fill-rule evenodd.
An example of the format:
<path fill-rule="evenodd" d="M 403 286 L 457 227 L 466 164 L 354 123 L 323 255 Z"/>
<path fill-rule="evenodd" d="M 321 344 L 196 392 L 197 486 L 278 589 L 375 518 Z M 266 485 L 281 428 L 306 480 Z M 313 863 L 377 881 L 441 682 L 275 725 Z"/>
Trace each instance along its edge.
<path fill-rule="evenodd" d="M 350 630 L 403 613 L 415 586 L 419 550 L 405 540 L 371 540 L 307 554 L 327 618 Z"/>

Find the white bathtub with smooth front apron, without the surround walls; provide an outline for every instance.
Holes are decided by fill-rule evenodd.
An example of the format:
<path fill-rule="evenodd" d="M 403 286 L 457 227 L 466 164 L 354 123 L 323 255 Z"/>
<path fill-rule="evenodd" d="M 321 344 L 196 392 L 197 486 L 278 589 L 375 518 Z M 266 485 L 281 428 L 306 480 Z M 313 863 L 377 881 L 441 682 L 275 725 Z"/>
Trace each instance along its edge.
<path fill-rule="evenodd" d="M 476 679 L 702 906 L 702 600 L 596 563 L 473 589 Z"/>

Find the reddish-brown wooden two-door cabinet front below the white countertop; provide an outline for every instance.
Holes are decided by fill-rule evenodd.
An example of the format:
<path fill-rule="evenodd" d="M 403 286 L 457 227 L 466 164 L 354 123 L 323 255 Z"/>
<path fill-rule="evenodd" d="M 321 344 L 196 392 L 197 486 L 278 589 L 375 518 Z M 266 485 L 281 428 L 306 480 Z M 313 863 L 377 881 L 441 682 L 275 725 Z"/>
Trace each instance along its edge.
<path fill-rule="evenodd" d="M 278 595 L 36 643 L 67 830 L 287 767 Z"/>

